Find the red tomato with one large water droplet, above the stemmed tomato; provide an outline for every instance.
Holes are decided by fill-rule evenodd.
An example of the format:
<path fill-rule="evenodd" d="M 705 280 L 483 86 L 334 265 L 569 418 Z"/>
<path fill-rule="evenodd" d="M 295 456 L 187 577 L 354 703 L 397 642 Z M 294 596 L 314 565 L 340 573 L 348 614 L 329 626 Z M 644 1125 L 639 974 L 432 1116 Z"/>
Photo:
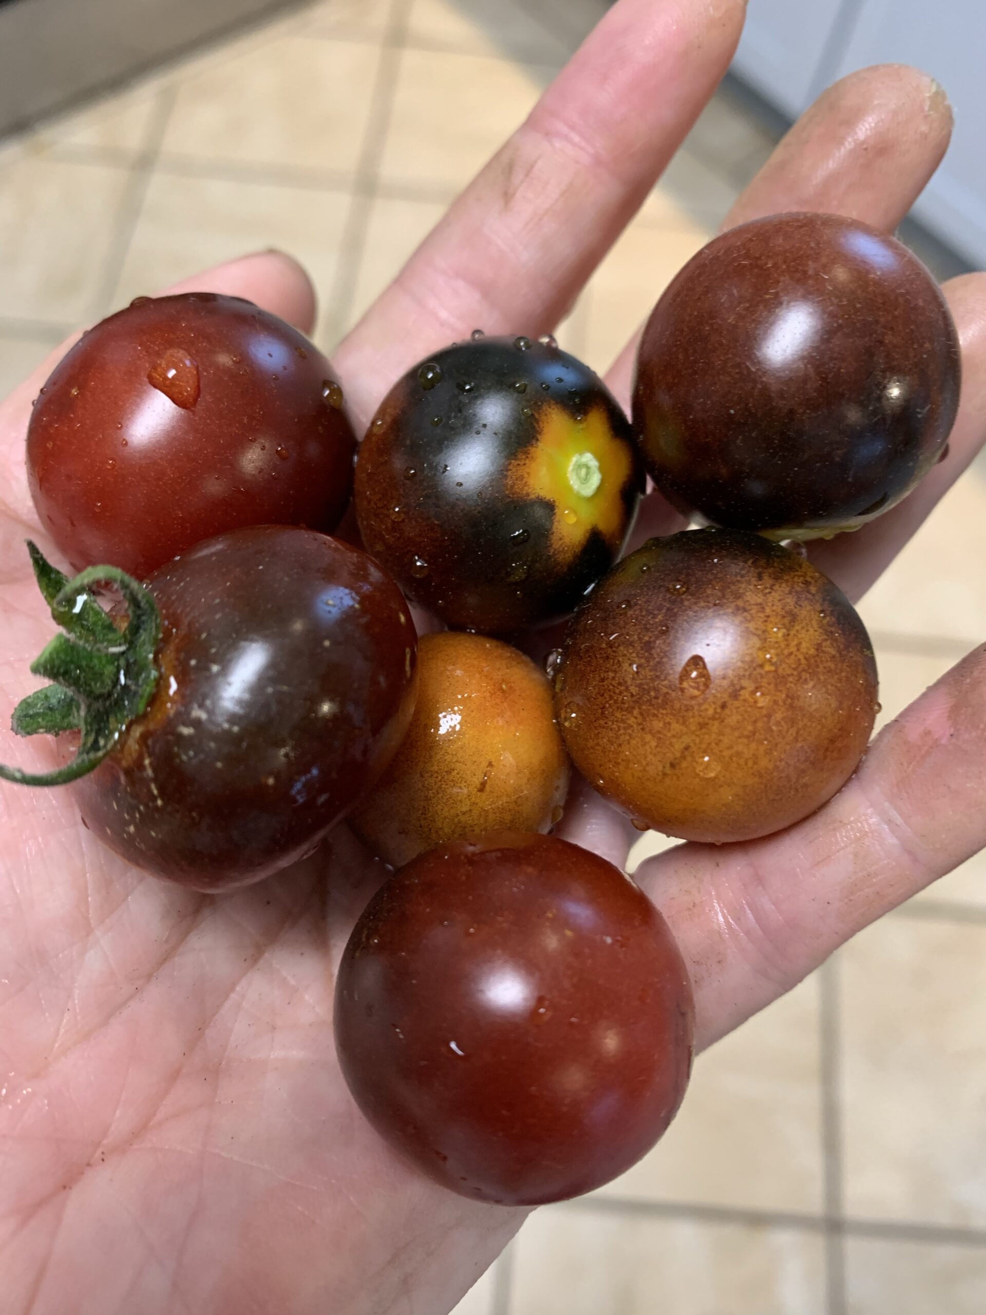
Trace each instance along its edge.
<path fill-rule="evenodd" d="M 138 297 L 55 367 L 28 427 L 41 523 L 80 569 L 143 579 L 246 525 L 329 531 L 355 437 L 325 356 L 239 297 Z"/>

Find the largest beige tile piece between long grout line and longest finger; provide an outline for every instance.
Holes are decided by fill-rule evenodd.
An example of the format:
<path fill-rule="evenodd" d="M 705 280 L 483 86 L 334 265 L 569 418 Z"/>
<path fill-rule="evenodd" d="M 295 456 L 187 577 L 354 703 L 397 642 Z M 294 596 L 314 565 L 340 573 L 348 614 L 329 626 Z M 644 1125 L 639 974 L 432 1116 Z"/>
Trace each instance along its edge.
<path fill-rule="evenodd" d="M 405 50 L 380 174 L 464 187 L 521 124 L 551 71 L 482 55 Z"/>

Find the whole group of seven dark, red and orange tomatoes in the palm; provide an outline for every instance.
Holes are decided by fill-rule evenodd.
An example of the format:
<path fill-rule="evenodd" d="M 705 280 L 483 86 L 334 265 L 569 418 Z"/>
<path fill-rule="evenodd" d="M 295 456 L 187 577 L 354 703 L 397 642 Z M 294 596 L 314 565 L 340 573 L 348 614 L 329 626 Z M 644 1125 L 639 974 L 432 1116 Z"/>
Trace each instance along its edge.
<path fill-rule="evenodd" d="M 640 830 L 715 844 L 839 790 L 876 664 L 794 540 L 904 497 L 958 384 L 923 266 L 820 214 L 682 270 L 632 421 L 552 338 L 476 331 L 400 379 L 358 447 L 296 330 L 234 297 L 141 297 L 33 410 L 32 493 L 76 573 L 32 546 L 62 633 L 13 725 L 63 761 L 0 771 L 75 781 L 106 846 L 205 892 L 276 880 L 346 819 L 397 869 L 338 974 L 358 1105 L 463 1194 L 588 1191 L 674 1115 L 693 1003 L 653 905 L 550 834 L 572 768 Z M 705 527 L 621 559 L 648 476 Z M 418 640 L 411 604 L 448 629 Z M 525 647 L 547 623 L 544 671 Z"/>

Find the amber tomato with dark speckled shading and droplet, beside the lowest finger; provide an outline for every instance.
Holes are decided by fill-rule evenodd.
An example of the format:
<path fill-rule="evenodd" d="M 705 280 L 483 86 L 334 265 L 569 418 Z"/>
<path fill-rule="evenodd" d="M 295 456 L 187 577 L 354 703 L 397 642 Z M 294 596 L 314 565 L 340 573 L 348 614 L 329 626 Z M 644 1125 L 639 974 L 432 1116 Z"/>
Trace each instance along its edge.
<path fill-rule="evenodd" d="M 756 534 L 651 539 L 576 614 L 555 673 L 575 765 L 638 822 L 749 840 L 820 807 L 873 730 L 877 669 L 845 596 Z"/>

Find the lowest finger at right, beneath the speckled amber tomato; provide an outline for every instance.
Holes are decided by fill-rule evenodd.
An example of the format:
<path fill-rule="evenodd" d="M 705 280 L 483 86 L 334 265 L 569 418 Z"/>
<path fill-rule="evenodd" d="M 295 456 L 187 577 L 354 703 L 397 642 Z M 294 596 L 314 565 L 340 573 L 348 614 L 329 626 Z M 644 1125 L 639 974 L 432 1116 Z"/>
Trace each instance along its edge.
<path fill-rule="evenodd" d="M 857 931 L 986 843 L 986 647 L 876 739 L 799 826 L 755 844 L 685 844 L 642 863 L 692 967 L 709 1045 Z"/>

